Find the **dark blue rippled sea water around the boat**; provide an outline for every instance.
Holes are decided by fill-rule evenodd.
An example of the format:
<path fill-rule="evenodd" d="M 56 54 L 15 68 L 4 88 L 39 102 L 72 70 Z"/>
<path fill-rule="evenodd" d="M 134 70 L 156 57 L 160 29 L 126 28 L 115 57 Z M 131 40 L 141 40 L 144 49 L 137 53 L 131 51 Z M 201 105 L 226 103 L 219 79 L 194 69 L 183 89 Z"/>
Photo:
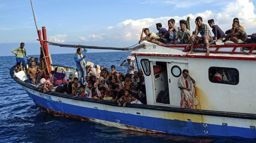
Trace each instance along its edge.
<path fill-rule="evenodd" d="M 130 52 L 88 53 L 86 61 L 125 72 L 120 63 Z M 31 55 L 30 55 L 31 56 Z M 52 55 L 53 64 L 75 66 L 74 54 Z M 38 57 L 38 55 L 34 55 Z M 15 56 L 0 57 L 0 85 L 16 64 Z M 0 143 L 255 143 L 232 138 L 193 138 L 169 134 L 146 134 L 107 127 L 94 122 L 78 121 L 42 112 L 11 77 L 0 88 Z"/>

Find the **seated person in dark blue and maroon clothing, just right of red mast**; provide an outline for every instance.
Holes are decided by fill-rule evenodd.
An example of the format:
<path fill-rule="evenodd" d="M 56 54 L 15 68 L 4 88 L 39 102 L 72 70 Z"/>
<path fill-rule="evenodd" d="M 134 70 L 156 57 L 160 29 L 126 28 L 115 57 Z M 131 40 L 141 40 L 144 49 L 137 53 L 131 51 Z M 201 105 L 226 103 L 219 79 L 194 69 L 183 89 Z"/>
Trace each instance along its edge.
<path fill-rule="evenodd" d="M 58 86 L 60 84 L 66 84 L 67 80 L 66 80 L 66 72 L 64 71 L 64 69 L 62 68 L 62 73 L 58 73 L 57 72 L 58 67 L 56 67 L 54 69 L 54 71 L 51 71 L 50 73 L 50 81 L 51 84 L 53 84 L 54 86 Z M 63 73 L 64 72 L 64 73 Z"/>

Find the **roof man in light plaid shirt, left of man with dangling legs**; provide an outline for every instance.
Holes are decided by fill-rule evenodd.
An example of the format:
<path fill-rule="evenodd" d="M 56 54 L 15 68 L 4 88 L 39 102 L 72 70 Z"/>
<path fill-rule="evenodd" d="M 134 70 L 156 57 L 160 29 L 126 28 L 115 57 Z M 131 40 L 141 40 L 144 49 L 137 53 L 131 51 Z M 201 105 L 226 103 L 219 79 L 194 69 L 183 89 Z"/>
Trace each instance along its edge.
<path fill-rule="evenodd" d="M 186 25 L 186 20 L 180 20 L 180 29 L 177 32 L 174 45 L 183 45 L 189 43 L 192 33 L 189 29 L 186 29 Z M 178 41 L 178 39 L 180 39 L 180 41 Z"/>

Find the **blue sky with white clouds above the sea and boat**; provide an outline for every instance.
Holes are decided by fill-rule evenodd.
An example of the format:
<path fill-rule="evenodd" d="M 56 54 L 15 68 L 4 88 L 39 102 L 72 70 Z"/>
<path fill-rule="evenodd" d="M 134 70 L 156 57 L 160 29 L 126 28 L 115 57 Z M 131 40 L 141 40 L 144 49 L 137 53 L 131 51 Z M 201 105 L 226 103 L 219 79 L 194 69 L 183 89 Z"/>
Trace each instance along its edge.
<path fill-rule="evenodd" d="M 171 18 L 178 21 L 202 16 L 214 19 L 223 31 L 238 17 L 247 34 L 256 32 L 254 0 L 33 0 L 38 28 L 45 26 L 49 41 L 67 44 L 127 47 L 138 42 L 141 29 L 157 32 L 155 23 L 167 28 Z M 28 54 L 38 54 L 39 42 L 30 0 L 1 0 L 0 56 L 25 43 Z M 250 19 L 254 18 L 254 19 Z M 74 53 L 72 48 L 50 46 L 52 54 Z M 89 50 L 104 52 L 104 50 Z"/>

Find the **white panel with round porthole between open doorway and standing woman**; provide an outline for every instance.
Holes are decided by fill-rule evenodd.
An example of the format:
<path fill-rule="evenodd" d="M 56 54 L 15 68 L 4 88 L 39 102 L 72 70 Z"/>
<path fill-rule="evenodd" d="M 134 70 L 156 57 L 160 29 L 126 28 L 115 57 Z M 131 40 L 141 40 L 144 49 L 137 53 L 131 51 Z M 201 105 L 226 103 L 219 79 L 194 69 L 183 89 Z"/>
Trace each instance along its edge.
<path fill-rule="evenodd" d="M 181 97 L 180 89 L 178 88 L 178 79 L 182 75 L 182 70 L 184 69 L 187 69 L 186 60 L 177 62 L 167 62 L 170 105 L 180 106 Z"/>

